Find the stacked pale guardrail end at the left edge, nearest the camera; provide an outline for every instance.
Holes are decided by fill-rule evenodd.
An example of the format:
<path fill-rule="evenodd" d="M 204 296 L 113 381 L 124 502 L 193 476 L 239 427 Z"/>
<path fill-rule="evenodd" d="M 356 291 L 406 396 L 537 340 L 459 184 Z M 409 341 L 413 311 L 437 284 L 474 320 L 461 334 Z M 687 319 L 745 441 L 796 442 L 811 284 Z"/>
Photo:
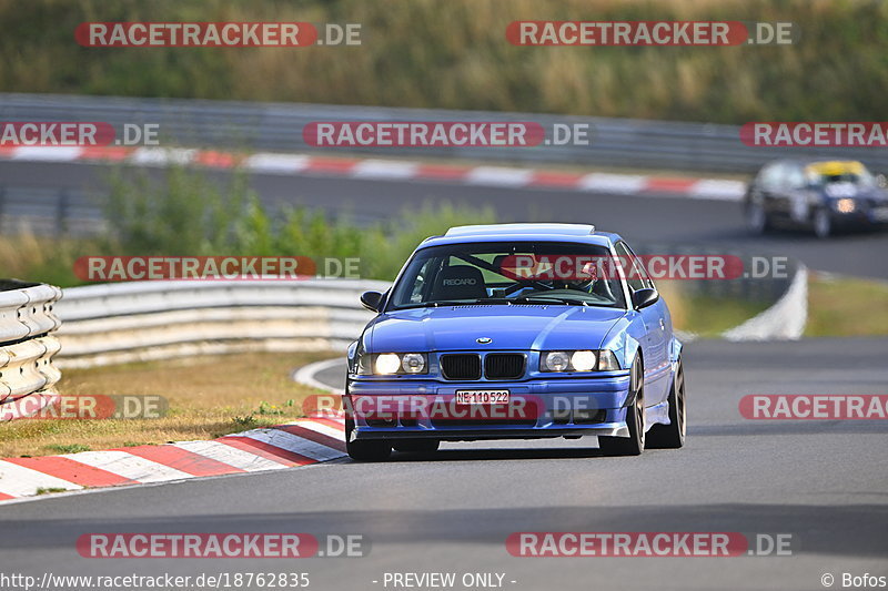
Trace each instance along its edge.
<path fill-rule="evenodd" d="M 60 320 L 53 313 L 61 289 L 0 281 L 0 420 L 37 412 L 58 398 L 61 373 L 52 363 Z M 27 404 L 26 404 L 27 399 Z"/>

